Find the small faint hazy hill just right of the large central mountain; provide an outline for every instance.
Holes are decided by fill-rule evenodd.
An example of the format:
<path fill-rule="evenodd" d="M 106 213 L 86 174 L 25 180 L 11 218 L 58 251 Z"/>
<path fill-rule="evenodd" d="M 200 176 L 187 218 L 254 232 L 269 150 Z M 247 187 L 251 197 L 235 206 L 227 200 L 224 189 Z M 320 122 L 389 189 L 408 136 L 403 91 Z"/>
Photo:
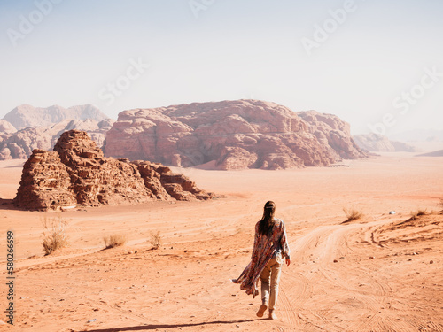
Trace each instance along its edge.
<path fill-rule="evenodd" d="M 397 151 L 397 152 L 414 152 L 416 148 L 408 143 L 401 143 L 396 141 L 390 141 L 385 135 L 378 134 L 364 134 L 353 135 L 355 143 L 361 147 L 361 149 L 373 152 L 383 151 Z"/>

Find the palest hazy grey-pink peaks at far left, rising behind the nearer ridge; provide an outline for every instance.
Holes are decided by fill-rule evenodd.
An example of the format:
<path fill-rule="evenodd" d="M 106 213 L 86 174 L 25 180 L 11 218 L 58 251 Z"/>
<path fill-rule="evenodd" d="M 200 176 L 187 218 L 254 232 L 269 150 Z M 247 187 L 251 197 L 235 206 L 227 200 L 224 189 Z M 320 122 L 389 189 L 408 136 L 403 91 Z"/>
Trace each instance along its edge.
<path fill-rule="evenodd" d="M 100 122 L 108 117 L 96 106 L 84 104 L 64 108 L 58 105 L 50 107 L 34 107 L 30 104 L 22 104 L 8 112 L 3 120 L 16 127 L 17 130 L 27 127 L 48 127 L 62 120 L 96 120 Z"/>

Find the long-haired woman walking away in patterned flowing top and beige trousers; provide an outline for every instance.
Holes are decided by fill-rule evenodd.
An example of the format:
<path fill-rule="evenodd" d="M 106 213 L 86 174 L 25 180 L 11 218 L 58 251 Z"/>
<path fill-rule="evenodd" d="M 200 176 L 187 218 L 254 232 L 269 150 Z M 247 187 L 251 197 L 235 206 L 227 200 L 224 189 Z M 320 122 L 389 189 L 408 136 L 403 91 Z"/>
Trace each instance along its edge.
<path fill-rule="evenodd" d="M 259 294 L 258 282 L 261 280 L 261 305 L 258 317 L 269 307 L 269 319 L 276 320 L 276 301 L 278 297 L 278 282 L 284 259 L 286 265 L 291 264 L 291 251 L 288 245 L 283 220 L 274 218 L 276 204 L 268 201 L 265 204 L 263 217 L 255 225 L 253 255 L 251 262 L 232 282 L 240 283 L 240 289 L 255 297 Z"/>

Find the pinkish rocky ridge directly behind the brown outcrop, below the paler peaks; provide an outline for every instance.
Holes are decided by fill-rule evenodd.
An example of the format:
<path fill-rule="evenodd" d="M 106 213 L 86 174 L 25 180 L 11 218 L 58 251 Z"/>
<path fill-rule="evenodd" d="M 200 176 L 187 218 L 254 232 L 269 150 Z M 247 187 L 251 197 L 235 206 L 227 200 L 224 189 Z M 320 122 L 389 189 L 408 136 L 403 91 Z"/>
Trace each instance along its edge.
<path fill-rule="evenodd" d="M 111 119 L 100 122 L 66 119 L 46 127 L 27 127 L 9 134 L 0 133 L 0 160 L 29 158 L 34 149 L 51 150 L 58 137 L 71 129 L 86 131 L 98 146 L 102 146 L 113 122 Z"/>

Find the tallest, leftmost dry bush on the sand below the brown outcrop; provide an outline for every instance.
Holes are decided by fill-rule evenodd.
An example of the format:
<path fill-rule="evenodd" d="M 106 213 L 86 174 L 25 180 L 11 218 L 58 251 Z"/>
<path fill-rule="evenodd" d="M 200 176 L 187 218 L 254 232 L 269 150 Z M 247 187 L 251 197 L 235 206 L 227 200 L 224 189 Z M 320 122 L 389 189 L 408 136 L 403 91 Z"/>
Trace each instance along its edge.
<path fill-rule="evenodd" d="M 66 227 L 67 221 L 58 216 L 49 218 L 43 217 L 43 251 L 45 255 L 57 251 L 67 245 Z"/>

